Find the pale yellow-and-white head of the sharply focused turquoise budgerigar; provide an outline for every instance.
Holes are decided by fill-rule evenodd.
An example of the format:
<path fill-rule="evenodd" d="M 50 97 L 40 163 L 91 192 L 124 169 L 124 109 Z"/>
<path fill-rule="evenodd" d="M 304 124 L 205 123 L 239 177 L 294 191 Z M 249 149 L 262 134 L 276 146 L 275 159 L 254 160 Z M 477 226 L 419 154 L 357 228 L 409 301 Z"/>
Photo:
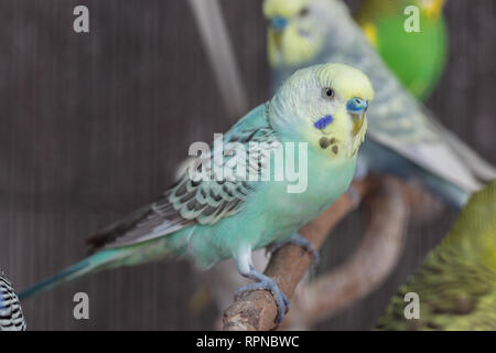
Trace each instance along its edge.
<path fill-rule="evenodd" d="M 295 72 L 270 103 L 271 124 L 281 136 L 309 142 L 332 158 L 353 158 L 365 138 L 374 98 L 368 77 L 344 64 Z"/>

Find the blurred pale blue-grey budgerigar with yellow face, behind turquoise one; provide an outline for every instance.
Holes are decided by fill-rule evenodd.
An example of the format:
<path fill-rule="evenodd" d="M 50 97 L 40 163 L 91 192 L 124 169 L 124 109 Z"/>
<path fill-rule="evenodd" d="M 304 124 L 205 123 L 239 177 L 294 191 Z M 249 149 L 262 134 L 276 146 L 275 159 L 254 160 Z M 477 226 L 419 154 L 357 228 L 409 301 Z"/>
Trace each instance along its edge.
<path fill-rule="evenodd" d="M 341 0 L 266 0 L 272 85 L 301 66 L 337 62 L 358 67 L 376 88 L 357 178 L 369 171 L 413 179 L 462 207 L 496 170 L 441 127 L 369 45 Z"/>

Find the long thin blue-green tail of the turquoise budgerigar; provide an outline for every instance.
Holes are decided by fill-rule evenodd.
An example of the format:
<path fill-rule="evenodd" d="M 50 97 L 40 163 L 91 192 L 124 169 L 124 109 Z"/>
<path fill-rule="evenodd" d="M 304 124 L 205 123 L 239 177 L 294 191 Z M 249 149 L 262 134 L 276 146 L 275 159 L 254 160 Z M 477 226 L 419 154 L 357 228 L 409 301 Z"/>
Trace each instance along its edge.
<path fill-rule="evenodd" d="M 60 271 L 58 274 L 55 274 L 54 276 L 48 277 L 41 282 L 37 282 L 36 285 L 21 291 L 19 293 L 19 299 L 24 300 L 29 297 L 53 289 L 61 284 L 72 281 L 88 272 L 93 272 L 115 259 L 115 254 L 117 254 L 117 250 L 105 250 L 85 258 L 84 260 Z"/>

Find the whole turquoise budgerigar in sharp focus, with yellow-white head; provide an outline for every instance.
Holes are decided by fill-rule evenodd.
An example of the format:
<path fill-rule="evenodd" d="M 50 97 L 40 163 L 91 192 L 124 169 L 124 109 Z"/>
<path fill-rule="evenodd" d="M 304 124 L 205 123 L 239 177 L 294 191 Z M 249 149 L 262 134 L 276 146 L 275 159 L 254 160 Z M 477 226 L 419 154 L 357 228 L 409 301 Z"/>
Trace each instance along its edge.
<path fill-rule="evenodd" d="M 270 101 L 224 135 L 225 154 L 234 148 L 227 142 L 246 150 L 259 142 L 255 159 L 248 153 L 249 161 L 241 165 L 245 159 L 233 164 L 234 157 L 224 157 L 224 164 L 217 165 L 215 142 L 209 154 L 198 157 L 214 172 L 226 167 L 234 178 L 197 180 L 191 170 L 200 172 L 204 167 L 192 162 L 160 200 L 90 237 L 93 256 L 28 289 L 21 298 L 99 269 L 166 255 L 187 256 L 204 269 L 233 257 L 239 272 L 256 281 L 237 295 L 271 291 L 279 309 L 277 323 L 281 322 L 289 300 L 272 279 L 254 268 L 251 252 L 283 240 L 314 250 L 296 232 L 348 189 L 373 96 L 368 77 L 347 65 L 316 65 L 294 73 Z M 294 180 L 288 175 L 278 180 L 276 158 L 261 158 L 268 154 L 284 156 L 287 171 L 294 170 L 291 162 L 304 169 L 300 172 L 306 173 L 305 188 L 291 191 Z M 237 178 L 236 165 L 255 171 L 257 178 Z M 269 178 L 261 180 L 263 175 Z"/>

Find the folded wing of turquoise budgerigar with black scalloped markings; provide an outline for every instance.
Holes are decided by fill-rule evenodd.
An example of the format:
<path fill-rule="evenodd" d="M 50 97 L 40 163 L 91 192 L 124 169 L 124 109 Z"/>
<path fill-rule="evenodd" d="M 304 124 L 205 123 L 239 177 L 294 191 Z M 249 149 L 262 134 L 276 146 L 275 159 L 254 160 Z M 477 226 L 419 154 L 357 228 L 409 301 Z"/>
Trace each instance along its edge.
<path fill-rule="evenodd" d="M 249 142 L 266 142 L 260 143 L 262 149 L 260 156 L 266 156 L 270 153 L 270 150 L 278 148 L 279 139 L 267 119 L 266 108 L 261 106 L 259 109 L 258 114 L 251 116 L 251 119 L 247 119 L 250 115 L 245 118 L 247 119 L 246 124 L 242 124 L 241 120 L 227 132 L 224 143 L 242 143 L 248 150 Z M 263 124 L 254 126 L 252 119 L 259 119 L 258 115 L 260 114 L 265 117 Z M 207 171 L 211 171 L 209 168 L 213 168 L 216 161 L 214 154 L 211 152 L 206 157 L 198 157 L 198 159 L 203 159 L 203 162 L 208 161 L 206 163 Z M 245 175 L 255 171 L 260 178 L 268 167 L 267 162 L 261 162 L 265 159 L 252 158 L 251 153 L 248 153 L 246 160 L 237 159 L 236 163 L 233 163 L 233 158 L 235 157 L 224 156 L 220 165 L 231 169 L 230 175 L 236 175 L 236 168 L 241 165 L 245 168 Z M 229 161 L 231 161 L 230 164 Z M 128 246 L 162 237 L 193 224 L 215 224 L 224 217 L 240 212 L 246 199 L 255 190 L 256 182 L 239 178 L 195 181 L 190 178 L 188 168 L 185 168 L 180 181 L 170 188 L 162 197 L 89 237 L 87 243 L 93 246 L 94 250 L 100 247 Z"/>

